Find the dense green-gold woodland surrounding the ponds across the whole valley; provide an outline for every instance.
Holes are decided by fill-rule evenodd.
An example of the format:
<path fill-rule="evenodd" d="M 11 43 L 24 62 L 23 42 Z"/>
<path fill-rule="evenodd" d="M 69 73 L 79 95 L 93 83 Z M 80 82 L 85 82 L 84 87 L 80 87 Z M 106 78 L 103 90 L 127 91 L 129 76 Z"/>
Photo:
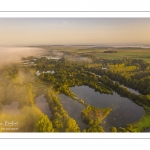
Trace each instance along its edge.
<path fill-rule="evenodd" d="M 110 60 L 93 55 L 87 56 L 91 61 L 85 61 L 78 60 L 79 56 L 70 59 L 72 56 L 67 54 L 60 59 L 28 57 L 22 58 L 21 64 L 0 68 L 0 111 L 2 106 L 15 101 L 20 111 L 16 116 L 1 114 L 0 121 L 18 120 L 21 122 L 19 132 L 105 132 L 101 121 L 111 113 L 111 108 L 90 106 L 70 91 L 70 87 L 86 85 L 100 93 L 112 95 L 117 92 L 144 108 L 145 114 L 140 120 L 126 128 L 110 127 L 110 132 L 140 132 L 150 127 L 149 63 L 142 59 Z M 122 85 L 140 94 L 134 94 Z M 68 115 L 57 97 L 58 93 L 85 105 L 81 118 L 88 125 L 86 129 L 81 131 L 76 120 Z M 35 105 L 35 98 L 40 94 L 45 94 L 51 118 Z"/>

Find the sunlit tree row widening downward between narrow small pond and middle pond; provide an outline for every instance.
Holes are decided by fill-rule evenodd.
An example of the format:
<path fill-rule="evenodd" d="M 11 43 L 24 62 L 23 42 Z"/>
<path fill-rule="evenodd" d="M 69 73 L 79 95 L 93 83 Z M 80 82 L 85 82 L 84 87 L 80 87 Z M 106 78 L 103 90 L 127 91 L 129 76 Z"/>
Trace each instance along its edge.
<path fill-rule="evenodd" d="M 49 88 L 46 99 L 52 112 L 52 124 L 55 132 L 79 132 L 80 128 L 76 121 L 71 118 L 59 102 L 54 91 Z"/>

